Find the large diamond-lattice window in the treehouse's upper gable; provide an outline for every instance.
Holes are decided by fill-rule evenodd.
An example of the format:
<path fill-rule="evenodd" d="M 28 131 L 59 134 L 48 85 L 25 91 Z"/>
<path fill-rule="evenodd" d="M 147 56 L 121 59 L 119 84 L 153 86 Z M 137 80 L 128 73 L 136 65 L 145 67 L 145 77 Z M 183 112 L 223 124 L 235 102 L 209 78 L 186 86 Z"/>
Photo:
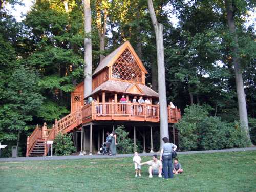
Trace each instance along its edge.
<path fill-rule="evenodd" d="M 125 49 L 112 66 L 112 78 L 142 82 L 141 69 L 129 49 Z"/>

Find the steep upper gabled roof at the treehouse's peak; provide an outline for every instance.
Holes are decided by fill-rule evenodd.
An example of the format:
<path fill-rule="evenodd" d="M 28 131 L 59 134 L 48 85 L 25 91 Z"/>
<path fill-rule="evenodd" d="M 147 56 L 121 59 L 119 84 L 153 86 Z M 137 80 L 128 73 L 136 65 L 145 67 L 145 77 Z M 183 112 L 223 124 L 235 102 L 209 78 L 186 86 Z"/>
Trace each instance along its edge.
<path fill-rule="evenodd" d="M 115 61 L 118 59 L 118 57 L 123 53 L 125 49 L 129 49 L 129 51 L 133 54 L 135 60 L 137 61 L 138 65 L 140 66 L 141 70 L 147 73 L 146 68 L 143 66 L 143 63 L 141 62 L 140 58 L 134 51 L 132 45 L 129 41 L 125 41 L 121 46 L 119 46 L 116 50 L 111 52 L 108 56 L 106 56 L 98 65 L 98 67 L 95 69 L 93 75 L 100 72 L 102 69 L 106 67 L 112 66 Z"/>

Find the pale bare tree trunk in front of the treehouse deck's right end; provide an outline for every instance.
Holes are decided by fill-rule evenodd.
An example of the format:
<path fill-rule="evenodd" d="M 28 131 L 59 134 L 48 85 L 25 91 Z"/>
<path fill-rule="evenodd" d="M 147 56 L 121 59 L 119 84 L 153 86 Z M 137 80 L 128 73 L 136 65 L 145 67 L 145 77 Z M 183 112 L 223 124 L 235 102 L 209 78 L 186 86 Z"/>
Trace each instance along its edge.
<path fill-rule="evenodd" d="M 162 148 L 163 137 L 169 138 L 168 131 L 168 116 L 167 116 L 167 102 L 166 102 L 166 86 L 165 86 L 165 68 L 164 68 L 164 47 L 163 47 L 163 25 L 157 22 L 156 14 L 154 11 L 152 0 L 147 0 L 148 10 L 152 24 L 156 34 L 157 44 L 157 66 L 158 66 L 158 91 L 160 103 L 160 140 Z"/>

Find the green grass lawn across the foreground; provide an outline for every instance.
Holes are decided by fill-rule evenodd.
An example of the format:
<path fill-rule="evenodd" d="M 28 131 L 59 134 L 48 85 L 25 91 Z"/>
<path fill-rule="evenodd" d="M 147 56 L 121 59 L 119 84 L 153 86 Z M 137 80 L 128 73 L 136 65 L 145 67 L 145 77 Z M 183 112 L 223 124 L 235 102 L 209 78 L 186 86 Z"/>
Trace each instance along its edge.
<path fill-rule="evenodd" d="M 151 157 L 142 157 L 142 161 Z M 256 191 L 256 152 L 179 155 L 174 179 L 135 178 L 131 158 L 0 163 L 0 191 Z"/>

